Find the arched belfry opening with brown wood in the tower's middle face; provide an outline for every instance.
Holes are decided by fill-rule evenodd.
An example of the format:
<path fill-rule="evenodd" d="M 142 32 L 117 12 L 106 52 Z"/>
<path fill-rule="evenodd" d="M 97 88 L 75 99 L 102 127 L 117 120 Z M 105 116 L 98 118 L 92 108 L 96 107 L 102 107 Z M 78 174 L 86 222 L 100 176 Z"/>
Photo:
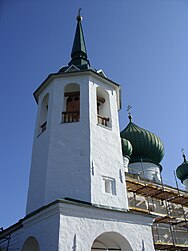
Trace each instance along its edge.
<path fill-rule="evenodd" d="M 78 122 L 80 120 L 80 85 L 68 84 L 64 88 L 64 111 L 62 122 Z"/>

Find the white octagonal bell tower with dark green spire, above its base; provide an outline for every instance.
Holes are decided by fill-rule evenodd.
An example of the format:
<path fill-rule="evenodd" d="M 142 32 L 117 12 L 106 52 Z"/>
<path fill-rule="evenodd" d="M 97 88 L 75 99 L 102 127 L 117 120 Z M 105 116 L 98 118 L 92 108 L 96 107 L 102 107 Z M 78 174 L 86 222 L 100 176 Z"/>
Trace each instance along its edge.
<path fill-rule="evenodd" d="M 26 213 L 57 199 L 127 209 L 120 86 L 90 66 L 82 17 L 71 61 L 34 92 L 38 105 Z"/>

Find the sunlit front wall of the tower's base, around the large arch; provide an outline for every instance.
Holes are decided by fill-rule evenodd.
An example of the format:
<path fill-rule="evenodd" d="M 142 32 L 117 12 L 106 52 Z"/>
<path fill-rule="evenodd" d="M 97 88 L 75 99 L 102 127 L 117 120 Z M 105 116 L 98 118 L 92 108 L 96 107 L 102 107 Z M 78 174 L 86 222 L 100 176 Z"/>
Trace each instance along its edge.
<path fill-rule="evenodd" d="M 124 238 L 121 243 L 116 239 L 122 251 L 153 251 L 151 221 L 126 212 L 61 205 L 59 250 L 90 251 L 98 236 L 111 232 Z"/>

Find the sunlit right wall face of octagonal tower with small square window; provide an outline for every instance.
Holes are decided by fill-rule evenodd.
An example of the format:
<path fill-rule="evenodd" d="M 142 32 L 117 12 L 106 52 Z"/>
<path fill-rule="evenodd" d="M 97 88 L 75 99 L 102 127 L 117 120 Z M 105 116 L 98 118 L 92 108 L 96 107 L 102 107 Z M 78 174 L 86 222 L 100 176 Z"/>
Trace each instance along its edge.
<path fill-rule="evenodd" d="M 97 122 L 96 93 L 99 86 L 109 94 L 111 127 L 99 125 Z M 94 78 L 90 78 L 89 88 L 92 203 L 125 209 L 128 208 L 128 205 L 119 135 L 116 91 L 109 84 L 102 83 Z M 105 182 L 109 184 L 105 185 Z M 105 191 L 104 187 L 110 186 L 110 183 L 112 192 L 108 188 Z"/>

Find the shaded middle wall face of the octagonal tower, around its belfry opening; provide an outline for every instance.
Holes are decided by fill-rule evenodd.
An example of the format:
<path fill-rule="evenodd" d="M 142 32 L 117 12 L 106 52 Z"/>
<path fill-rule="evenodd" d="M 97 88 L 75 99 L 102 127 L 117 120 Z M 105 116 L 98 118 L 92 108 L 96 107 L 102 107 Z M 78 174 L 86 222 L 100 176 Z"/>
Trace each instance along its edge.
<path fill-rule="evenodd" d="M 61 123 L 64 86 L 69 83 L 80 84 L 80 121 Z M 56 80 L 46 203 L 64 197 L 90 201 L 87 93 L 87 80 L 83 77 Z"/>

